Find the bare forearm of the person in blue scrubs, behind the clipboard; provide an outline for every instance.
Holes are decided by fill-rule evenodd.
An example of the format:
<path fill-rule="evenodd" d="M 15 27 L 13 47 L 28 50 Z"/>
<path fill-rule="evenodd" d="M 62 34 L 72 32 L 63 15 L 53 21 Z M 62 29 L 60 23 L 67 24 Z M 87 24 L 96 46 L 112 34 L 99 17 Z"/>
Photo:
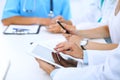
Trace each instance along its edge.
<path fill-rule="evenodd" d="M 36 17 L 22 17 L 14 16 L 2 20 L 3 24 L 8 26 L 10 24 L 20 24 L 20 25 L 29 25 L 29 24 L 42 24 L 49 25 L 50 19 L 48 18 L 36 18 Z"/>

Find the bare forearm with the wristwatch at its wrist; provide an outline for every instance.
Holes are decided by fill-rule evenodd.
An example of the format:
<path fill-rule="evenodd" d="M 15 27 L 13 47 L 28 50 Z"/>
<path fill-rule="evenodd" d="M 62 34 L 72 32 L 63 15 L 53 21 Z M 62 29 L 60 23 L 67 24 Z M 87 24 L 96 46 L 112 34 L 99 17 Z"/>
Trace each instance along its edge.
<path fill-rule="evenodd" d="M 112 50 L 117 48 L 118 44 L 104 44 L 88 41 L 88 44 L 85 46 L 85 49 L 88 50 Z"/>

